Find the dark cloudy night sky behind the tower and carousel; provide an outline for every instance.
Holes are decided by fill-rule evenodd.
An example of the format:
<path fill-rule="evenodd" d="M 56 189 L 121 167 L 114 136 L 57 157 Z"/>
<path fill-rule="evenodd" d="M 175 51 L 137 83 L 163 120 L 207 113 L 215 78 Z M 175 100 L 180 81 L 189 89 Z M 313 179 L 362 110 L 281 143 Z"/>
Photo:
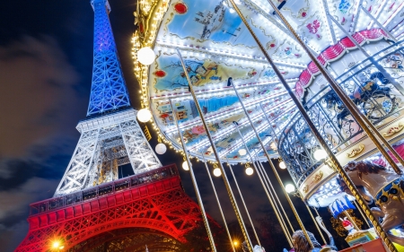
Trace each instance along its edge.
<path fill-rule="evenodd" d="M 130 39 L 136 29 L 133 24 L 136 3 L 134 0 L 110 0 L 110 5 L 110 22 L 131 102 L 135 109 L 140 109 L 136 96 L 139 86 L 130 56 Z M 90 98 L 92 30 L 93 12 L 89 0 L 2 1 L 0 251 L 13 251 L 25 237 L 29 204 L 53 196 L 74 152 L 80 137 L 75 126 L 85 118 Z M 156 143 L 154 136 L 151 145 L 154 147 Z M 163 165 L 175 162 L 180 167 L 182 163 L 182 157 L 172 152 L 159 158 Z M 206 212 L 223 223 L 205 167 L 198 162 L 194 169 Z M 257 176 L 247 177 L 241 166 L 234 170 L 251 218 L 259 226 L 259 220 L 271 214 L 268 198 Z M 195 199 L 188 172 L 180 169 L 180 173 L 185 190 Z M 290 179 L 286 171 L 281 175 Z M 273 181 L 278 187 L 275 179 Z M 215 186 L 226 219 L 234 222 L 235 215 L 222 178 L 215 178 Z M 301 200 L 294 197 L 294 202 L 299 204 Z M 298 208 L 307 216 L 302 204 Z M 290 210 L 286 211 L 293 216 Z M 312 226 L 311 219 L 305 222 Z M 272 239 L 287 244 L 283 235 Z"/>

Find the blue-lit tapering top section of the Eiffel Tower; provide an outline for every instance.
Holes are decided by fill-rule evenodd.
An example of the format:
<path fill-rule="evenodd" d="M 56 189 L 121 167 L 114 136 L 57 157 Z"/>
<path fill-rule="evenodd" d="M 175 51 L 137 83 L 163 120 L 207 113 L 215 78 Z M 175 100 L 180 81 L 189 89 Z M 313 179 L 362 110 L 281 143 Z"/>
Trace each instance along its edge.
<path fill-rule="evenodd" d="M 127 86 L 110 27 L 110 4 L 107 0 L 92 0 L 91 3 L 94 10 L 94 55 L 87 117 L 130 107 Z"/>

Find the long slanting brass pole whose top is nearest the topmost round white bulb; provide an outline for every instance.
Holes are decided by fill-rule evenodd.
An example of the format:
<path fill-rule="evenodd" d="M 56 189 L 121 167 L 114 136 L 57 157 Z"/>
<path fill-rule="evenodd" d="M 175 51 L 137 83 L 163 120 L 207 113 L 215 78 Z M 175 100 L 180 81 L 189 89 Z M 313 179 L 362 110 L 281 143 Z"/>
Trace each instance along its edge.
<path fill-rule="evenodd" d="M 230 201 L 232 203 L 233 210 L 234 210 L 234 213 L 236 215 L 237 221 L 239 222 L 240 228 L 242 229 L 242 235 L 243 235 L 243 237 L 244 237 L 244 239 L 245 239 L 245 241 L 247 243 L 247 247 L 249 248 L 250 252 L 252 252 L 252 244 L 251 244 L 250 236 L 249 236 L 249 234 L 247 232 L 247 229 L 245 227 L 245 224 L 244 224 L 244 222 L 242 220 L 242 213 L 240 213 L 240 209 L 239 209 L 237 203 L 235 202 L 235 198 L 234 198 L 234 195 L 233 195 L 232 188 L 230 187 L 229 180 L 227 179 L 224 167 L 222 165 L 222 162 L 220 161 L 219 153 L 217 152 L 217 149 L 216 149 L 215 143 L 213 141 L 212 135 L 210 134 L 209 127 L 207 126 L 204 113 L 203 113 L 202 109 L 200 108 L 200 105 L 199 105 L 199 102 L 198 102 L 198 99 L 197 99 L 197 95 L 195 94 L 194 87 L 193 87 L 193 85 L 192 85 L 192 83 L 191 83 L 191 81 L 189 79 L 189 74 L 188 74 L 188 71 L 187 71 L 187 67 L 184 64 L 184 60 L 182 59 L 182 56 L 180 54 L 180 49 L 179 48 L 177 48 L 177 54 L 180 57 L 180 63 L 182 65 L 182 69 L 184 70 L 185 77 L 187 78 L 187 82 L 189 84 L 189 91 L 192 94 L 192 99 L 194 100 L 195 105 L 197 106 L 199 117 L 200 117 L 200 119 L 202 121 L 202 124 L 205 127 L 205 130 L 206 130 L 207 138 L 209 139 L 209 142 L 212 145 L 213 152 L 215 153 L 215 159 L 216 159 L 216 161 L 217 161 L 217 163 L 219 165 L 219 168 L 222 170 L 222 178 L 224 180 L 224 186 L 226 187 L 227 194 L 229 195 Z"/>

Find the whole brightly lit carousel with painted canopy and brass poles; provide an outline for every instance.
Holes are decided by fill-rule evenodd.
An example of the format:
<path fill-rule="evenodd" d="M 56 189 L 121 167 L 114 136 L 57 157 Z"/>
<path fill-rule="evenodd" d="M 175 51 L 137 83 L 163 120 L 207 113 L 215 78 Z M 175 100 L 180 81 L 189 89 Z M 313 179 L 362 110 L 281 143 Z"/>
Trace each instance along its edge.
<path fill-rule="evenodd" d="M 320 216 L 317 228 L 329 246 L 305 230 L 290 192 L 308 208 L 345 213 L 351 248 L 344 251 L 404 251 L 403 7 L 403 0 L 138 1 L 138 118 L 153 120 L 157 152 L 165 143 L 182 153 L 194 183 L 190 159 L 214 163 L 245 251 L 264 248 L 250 241 L 226 163 L 246 164 L 245 172 L 259 177 L 287 251 L 338 249 Z M 296 189 L 283 186 L 278 169 L 288 170 Z M 271 180 L 283 188 L 300 230 L 288 230 Z M 368 229 L 356 226 L 347 212 L 354 208 Z M 206 230 L 216 251 L 207 222 Z"/>

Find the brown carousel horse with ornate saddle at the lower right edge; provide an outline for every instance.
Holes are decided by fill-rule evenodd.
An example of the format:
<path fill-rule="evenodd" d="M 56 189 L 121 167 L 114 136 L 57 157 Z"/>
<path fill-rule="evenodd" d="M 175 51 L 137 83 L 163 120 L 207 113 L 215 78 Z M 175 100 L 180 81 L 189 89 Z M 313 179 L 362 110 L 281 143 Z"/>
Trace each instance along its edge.
<path fill-rule="evenodd" d="M 404 224 L 404 181 L 400 175 L 370 161 L 350 161 L 344 169 L 367 203 L 374 200 L 380 207 L 371 210 L 376 217 L 383 218 L 381 225 L 384 230 L 388 232 Z M 343 191 L 351 194 L 341 178 L 338 178 L 338 183 Z M 404 245 L 404 237 L 390 232 L 388 236 L 393 242 Z"/>

